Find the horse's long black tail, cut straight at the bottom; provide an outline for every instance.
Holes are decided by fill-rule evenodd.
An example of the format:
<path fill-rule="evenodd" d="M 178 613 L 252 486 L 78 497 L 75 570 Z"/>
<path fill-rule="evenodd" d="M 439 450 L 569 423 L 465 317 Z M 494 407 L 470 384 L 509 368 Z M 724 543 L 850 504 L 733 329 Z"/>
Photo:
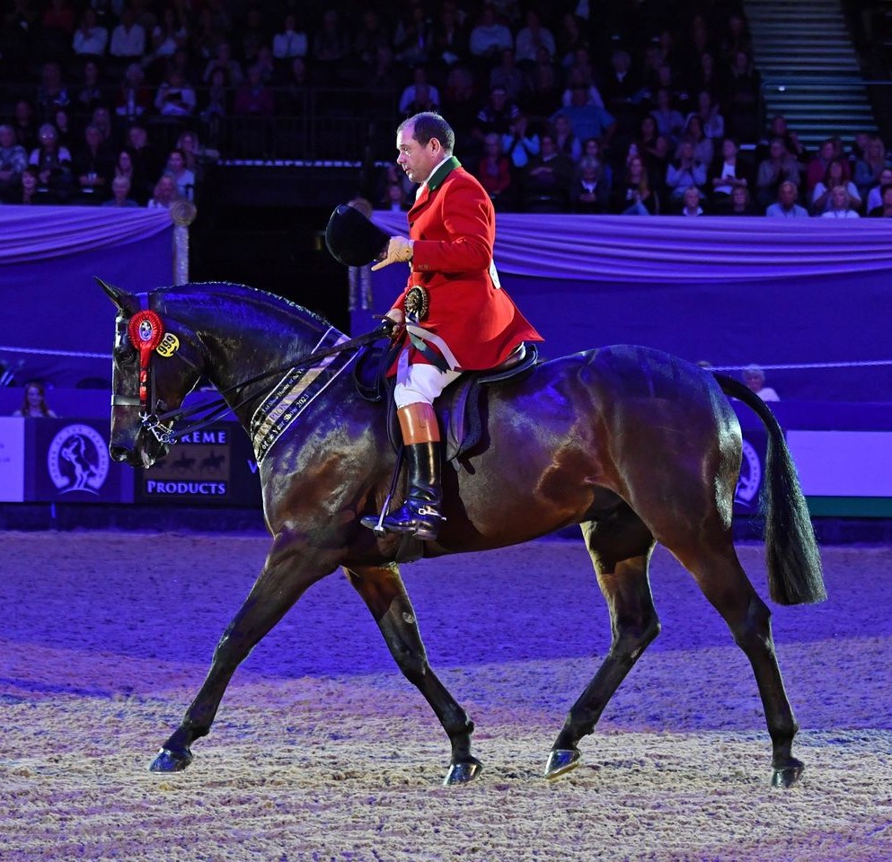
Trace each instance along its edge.
<path fill-rule="evenodd" d="M 768 431 L 762 509 L 769 593 L 778 604 L 823 602 L 827 594 L 815 530 L 781 426 L 743 383 L 726 374 L 713 376 L 722 391 L 743 401 Z"/>

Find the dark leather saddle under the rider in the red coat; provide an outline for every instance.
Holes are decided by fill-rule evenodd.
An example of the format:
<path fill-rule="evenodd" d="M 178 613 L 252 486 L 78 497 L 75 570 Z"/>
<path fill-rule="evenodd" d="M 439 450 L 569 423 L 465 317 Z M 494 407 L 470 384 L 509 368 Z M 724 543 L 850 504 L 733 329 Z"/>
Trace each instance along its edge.
<path fill-rule="evenodd" d="M 481 418 L 483 387 L 508 380 L 521 380 L 530 374 L 539 360 L 534 344 L 521 344 L 503 363 L 484 371 L 464 372 L 455 383 L 450 383 L 437 398 L 437 412 L 443 438 L 443 457 L 455 470 L 463 466 L 472 471 L 468 453 L 483 438 Z M 384 376 L 391 365 L 390 351 L 383 347 L 364 347 L 355 365 L 353 377 L 363 398 L 380 402 L 386 397 L 387 435 L 394 451 L 402 444 L 400 425 L 393 405 L 393 377 Z"/>

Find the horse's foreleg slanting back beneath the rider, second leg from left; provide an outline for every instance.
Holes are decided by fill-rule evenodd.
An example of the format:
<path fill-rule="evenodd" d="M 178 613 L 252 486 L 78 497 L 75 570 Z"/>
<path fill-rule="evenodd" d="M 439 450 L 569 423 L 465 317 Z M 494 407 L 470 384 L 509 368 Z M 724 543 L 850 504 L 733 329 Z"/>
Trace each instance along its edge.
<path fill-rule="evenodd" d="M 464 784 L 477 778 L 481 763 L 471 754 L 473 722 L 430 669 L 415 611 L 399 569 L 395 565 L 352 567 L 347 569 L 347 574 L 372 611 L 396 664 L 424 695 L 449 736 L 452 760 L 443 783 Z"/>

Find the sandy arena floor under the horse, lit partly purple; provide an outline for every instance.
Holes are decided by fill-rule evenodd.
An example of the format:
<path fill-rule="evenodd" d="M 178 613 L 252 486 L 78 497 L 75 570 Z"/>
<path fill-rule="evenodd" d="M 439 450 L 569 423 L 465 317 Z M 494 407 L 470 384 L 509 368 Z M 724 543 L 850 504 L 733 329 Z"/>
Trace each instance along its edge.
<path fill-rule="evenodd" d="M 772 790 L 744 655 L 665 551 L 663 633 L 541 778 L 608 645 L 581 542 L 404 567 L 428 655 L 472 715 L 480 781 L 445 788 L 446 736 L 343 576 L 236 674 L 189 770 L 146 770 L 252 584 L 258 536 L 0 533 L 0 859 L 892 859 L 892 550 L 825 550 L 830 601 L 773 607 L 802 730 Z M 760 594 L 762 549 L 740 548 Z"/>

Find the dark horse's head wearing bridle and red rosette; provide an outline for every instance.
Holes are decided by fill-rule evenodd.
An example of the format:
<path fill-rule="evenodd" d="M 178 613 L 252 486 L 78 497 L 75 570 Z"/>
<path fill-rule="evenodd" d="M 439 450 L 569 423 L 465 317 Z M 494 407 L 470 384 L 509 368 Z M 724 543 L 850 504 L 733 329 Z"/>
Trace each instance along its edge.
<path fill-rule="evenodd" d="M 179 408 L 199 382 L 199 342 L 166 308 L 153 309 L 152 294 L 128 294 L 96 280 L 118 307 L 109 451 L 115 461 L 150 467 L 170 449 L 163 440 L 170 426 L 153 427 L 153 418 Z"/>

